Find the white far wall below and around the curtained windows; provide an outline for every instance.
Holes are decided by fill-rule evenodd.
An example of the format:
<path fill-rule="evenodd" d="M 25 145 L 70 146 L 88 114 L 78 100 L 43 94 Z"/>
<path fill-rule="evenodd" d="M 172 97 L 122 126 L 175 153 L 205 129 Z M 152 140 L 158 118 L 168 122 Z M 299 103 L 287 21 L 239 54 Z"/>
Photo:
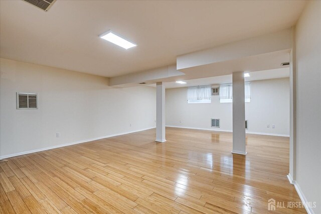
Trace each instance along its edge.
<path fill-rule="evenodd" d="M 212 128 L 211 118 L 221 119 L 221 127 Z M 245 103 L 245 118 L 247 132 L 288 136 L 289 79 L 252 81 L 251 102 Z M 267 124 L 270 128 L 266 128 Z M 187 88 L 167 89 L 166 125 L 232 131 L 232 103 L 220 103 L 219 96 L 212 96 L 211 104 L 188 104 Z"/>

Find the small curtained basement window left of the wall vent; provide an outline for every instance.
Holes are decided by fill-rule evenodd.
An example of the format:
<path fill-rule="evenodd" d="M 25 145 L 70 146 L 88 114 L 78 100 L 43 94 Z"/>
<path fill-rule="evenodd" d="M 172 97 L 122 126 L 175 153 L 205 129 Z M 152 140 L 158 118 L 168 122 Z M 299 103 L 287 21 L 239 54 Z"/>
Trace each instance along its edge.
<path fill-rule="evenodd" d="M 187 89 L 188 103 L 211 103 L 211 86 L 196 86 Z"/>

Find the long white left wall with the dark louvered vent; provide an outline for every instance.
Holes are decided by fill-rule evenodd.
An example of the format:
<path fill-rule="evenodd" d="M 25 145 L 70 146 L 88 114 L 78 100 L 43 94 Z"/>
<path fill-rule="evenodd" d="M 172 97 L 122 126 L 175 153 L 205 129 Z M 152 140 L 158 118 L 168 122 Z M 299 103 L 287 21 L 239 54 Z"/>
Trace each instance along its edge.
<path fill-rule="evenodd" d="M 155 88 L 116 89 L 104 77 L 0 64 L 1 156 L 155 127 Z M 17 110 L 16 92 L 39 93 L 39 109 Z"/>

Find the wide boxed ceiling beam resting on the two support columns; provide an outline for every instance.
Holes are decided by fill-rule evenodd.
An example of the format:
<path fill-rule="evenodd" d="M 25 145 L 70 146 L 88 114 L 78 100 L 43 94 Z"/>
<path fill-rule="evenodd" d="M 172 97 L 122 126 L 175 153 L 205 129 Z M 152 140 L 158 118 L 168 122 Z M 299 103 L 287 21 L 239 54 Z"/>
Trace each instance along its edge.
<path fill-rule="evenodd" d="M 132 87 L 141 82 L 153 84 L 281 68 L 281 63 L 289 60 L 291 35 L 291 29 L 286 29 L 181 55 L 176 65 L 112 77 L 109 86 Z"/>

